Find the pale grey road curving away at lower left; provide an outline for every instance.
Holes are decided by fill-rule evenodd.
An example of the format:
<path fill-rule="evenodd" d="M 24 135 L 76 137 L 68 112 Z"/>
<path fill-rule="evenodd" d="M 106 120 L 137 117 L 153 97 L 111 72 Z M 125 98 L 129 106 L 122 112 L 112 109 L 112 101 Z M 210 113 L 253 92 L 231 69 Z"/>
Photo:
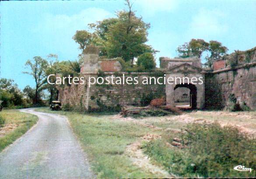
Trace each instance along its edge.
<path fill-rule="evenodd" d="M 66 118 L 21 111 L 37 115 L 39 122 L 0 153 L 0 179 L 95 178 Z"/>

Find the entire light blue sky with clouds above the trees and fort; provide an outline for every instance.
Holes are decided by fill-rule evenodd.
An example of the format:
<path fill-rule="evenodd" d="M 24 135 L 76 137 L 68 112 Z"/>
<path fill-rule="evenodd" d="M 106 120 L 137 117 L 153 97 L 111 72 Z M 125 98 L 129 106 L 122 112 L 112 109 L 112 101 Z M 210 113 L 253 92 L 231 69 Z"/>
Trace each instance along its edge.
<path fill-rule="evenodd" d="M 179 45 L 191 38 L 217 40 L 229 53 L 256 46 L 256 0 L 131 0 L 137 16 L 151 23 L 147 44 L 175 57 Z M 53 53 L 60 60 L 75 60 L 75 31 L 87 24 L 115 17 L 123 0 L 1 1 L 0 77 L 14 79 L 23 89 L 35 86 L 23 74 L 25 62 Z"/>

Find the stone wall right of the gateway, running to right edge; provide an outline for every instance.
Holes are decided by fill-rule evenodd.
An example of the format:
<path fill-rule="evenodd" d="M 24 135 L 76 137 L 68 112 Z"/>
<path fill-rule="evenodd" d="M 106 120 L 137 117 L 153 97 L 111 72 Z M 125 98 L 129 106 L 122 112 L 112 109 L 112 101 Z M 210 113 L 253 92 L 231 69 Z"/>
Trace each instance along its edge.
<path fill-rule="evenodd" d="M 205 75 L 206 107 L 223 108 L 232 93 L 237 103 L 245 102 L 251 109 L 256 109 L 255 62 L 240 65 L 234 70 L 227 68 Z"/>

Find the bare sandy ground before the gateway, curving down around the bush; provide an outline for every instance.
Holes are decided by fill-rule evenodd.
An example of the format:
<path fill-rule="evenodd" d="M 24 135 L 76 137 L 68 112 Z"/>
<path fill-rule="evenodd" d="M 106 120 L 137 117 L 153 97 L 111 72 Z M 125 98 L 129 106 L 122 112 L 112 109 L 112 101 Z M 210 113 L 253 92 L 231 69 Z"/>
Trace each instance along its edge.
<path fill-rule="evenodd" d="M 216 117 L 218 116 L 218 117 Z M 179 123 L 212 123 L 217 121 L 221 126 L 231 125 L 238 127 L 241 132 L 245 132 L 250 135 L 256 136 L 256 113 L 230 113 L 224 111 L 193 111 L 191 113 L 183 113 L 178 116 L 167 116 L 167 117 L 144 117 L 142 119 L 135 119 L 132 117 L 122 117 L 121 115 L 115 115 L 113 119 L 131 121 L 135 124 L 143 125 L 152 128 L 152 132 L 156 130 L 168 131 L 171 130 L 173 133 L 181 132 L 180 129 L 174 128 L 161 128 L 152 125 L 151 123 L 158 121 L 161 123 L 168 123 L 170 121 L 175 121 Z M 137 165 L 141 169 L 147 172 L 151 172 L 161 176 L 162 178 L 179 178 L 175 175 L 170 175 L 162 167 L 154 165 L 150 158 L 147 157 L 141 150 L 142 141 L 150 141 L 157 138 L 161 138 L 161 135 L 157 134 L 147 134 L 141 138 L 140 141 L 134 142 L 126 147 L 125 154 L 130 157 L 134 165 Z"/>

